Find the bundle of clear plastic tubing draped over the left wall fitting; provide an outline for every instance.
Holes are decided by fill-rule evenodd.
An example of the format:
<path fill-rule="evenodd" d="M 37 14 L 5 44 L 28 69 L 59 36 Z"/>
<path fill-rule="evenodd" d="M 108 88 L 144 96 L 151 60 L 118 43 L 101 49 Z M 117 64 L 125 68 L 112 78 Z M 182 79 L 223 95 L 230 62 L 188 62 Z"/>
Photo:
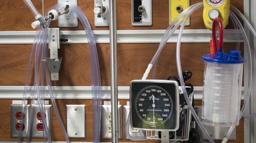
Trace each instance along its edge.
<path fill-rule="evenodd" d="M 55 5 L 51 9 L 57 10 L 57 9 L 61 8 L 62 6 L 66 5 L 66 4 L 68 4 L 70 6 L 70 11 L 73 11 L 78 16 L 78 18 L 81 20 L 81 22 L 84 26 L 87 38 L 88 38 L 88 43 L 89 43 L 89 48 L 90 48 L 90 53 L 91 53 L 90 54 L 90 62 L 91 62 L 91 75 L 92 75 L 92 80 L 91 81 L 92 81 L 92 100 L 93 100 L 93 118 L 94 118 L 93 121 L 95 120 L 95 122 L 93 124 L 94 127 L 92 128 L 93 129 L 93 142 L 99 142 L 99 140 L 100 140 L 100 115 L 101 115 L 101 82 L 100 82 L 100 70 L 99 70 L 99 61 L 98 61 L 98 54 L 97 54 L 96 44 L 95 44 L 95 41 L 94 41 L 94 37 L 93 37 L 93 33 L 92 33 L 92 29 L 90 27 L 90 24 L 89 24 L 87 18 L 85 17 L 84 12 L 80 8 L 78 8 L 74 4 L 62 3 L 62 4 Z M 47 22 L 48 26 L 50 24 L 50 21 L 51 20 L 48 20 L 48 22 Z M 42 30 L 41 27 L 39 29 Z M 47 41 L 47 34 L 43 34 L 43 35 L 46 35 L 45 36 L 46 38 L 44 38 L 44 41 Z M 42 35 L 39 36 L 39 37 L 42 37 Z M 38 39 L 41 39 L 41 38 L 38 38 Z M 35 39 L 34 43 L 37 43 L 38 39 Z M 45 45 L 45 44 L 46 43 L 44 42 L 43 45 Z M 34 52 L 32 52 L 32 53 L 34 53 Z M 33 54 L 31 54 L 31 56 L 30 56 L 29 67 L 28 67 L 28 72 L 27 72 L 27 79 L 29 79 L 29 75 L 30 75 L 32 58 L 33 58 Z M 57 110 L 57 106 L 56 106 L 56 103 L 55 103 L 55 100 L 54 100 L 54 97 L 53 97 L 53 94 L 52 94 L 50 78 L 49 78 L 49 73 L 48 73 L 47 68 L 45 68 L 45 72 L 46 72 L 46 79 L 48 79 L 47 83 L 48 83 L 48 88 L 49 88 L 49 92 L 50 92 L 50 95 L 51 95 L 54 111 L 56 113 L 56 116 L 57 116 L 58 121 L 60 123 L 60 127 L 62 129 L 62 132 L 64 133 L 64 136 L 65 136 L 67 142 L 70 142 L 69 139 L 68 139 L 66 130 L 64 128 L 64 125 L 63 125 L 63 123 L 61 121 L 61 118 L 59 116 L 59 112 Z M 28 81 L 27 79 L 26 79 L 26 83 Z M 25 100 L 26 100 L 26 95 L 27 95 L 27 88 L 28 88 L 28 84 L 25 84 L 25 90 L 24 90 L 24 96 L 23 96 L 23 97 L 25 97 Z M 39 95 L 39 88 L 38 87 L 37 87 L 37 93 Z M 24 100 L 24 105 L 25 105 L 25 100 Z M 41 107 L 40 109 L 42 109 L 41 101 L 39 101 L 39 102 L 40 102 L 39 107 Z M 23 107 L 23 111 L 24 111 L 24 107 Z"/>

